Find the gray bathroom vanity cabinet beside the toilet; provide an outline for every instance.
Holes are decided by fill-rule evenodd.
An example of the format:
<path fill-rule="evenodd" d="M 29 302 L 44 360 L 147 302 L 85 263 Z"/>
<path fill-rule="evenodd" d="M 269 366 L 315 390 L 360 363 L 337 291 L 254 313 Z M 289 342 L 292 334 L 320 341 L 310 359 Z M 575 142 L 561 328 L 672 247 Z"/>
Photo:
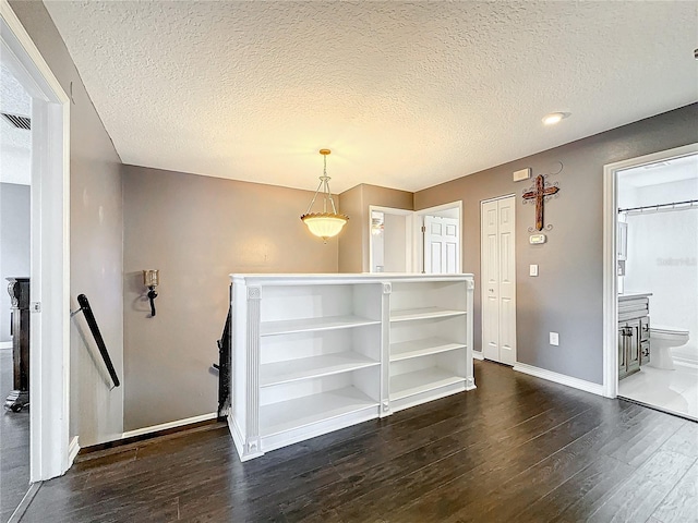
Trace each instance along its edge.
<path fill-rule="evenodd" d="M 650 362 L 649 296 L 649 293 L 618 296 L 618 379 Z"/>

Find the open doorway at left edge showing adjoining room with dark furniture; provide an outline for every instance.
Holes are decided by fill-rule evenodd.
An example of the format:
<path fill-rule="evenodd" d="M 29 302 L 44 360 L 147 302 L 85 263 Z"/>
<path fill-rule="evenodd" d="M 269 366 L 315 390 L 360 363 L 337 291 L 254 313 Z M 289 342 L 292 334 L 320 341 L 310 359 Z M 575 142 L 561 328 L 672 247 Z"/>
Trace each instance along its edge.
<path fill-rule="evenodd" d="M 0 60 L 0 521 L 10 519 L 29 487 L 31 115 L 32 98 Z"/>

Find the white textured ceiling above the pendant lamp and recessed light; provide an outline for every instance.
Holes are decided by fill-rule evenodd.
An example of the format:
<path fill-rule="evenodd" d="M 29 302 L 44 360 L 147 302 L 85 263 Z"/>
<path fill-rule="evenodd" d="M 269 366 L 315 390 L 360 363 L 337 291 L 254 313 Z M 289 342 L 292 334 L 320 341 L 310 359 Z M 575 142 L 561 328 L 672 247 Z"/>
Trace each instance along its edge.
<path fill-rule="evenodd" d="M 46 4 L 122 160 L 213 177 L 416 191 L 698 99 L 695 1 Z"/>

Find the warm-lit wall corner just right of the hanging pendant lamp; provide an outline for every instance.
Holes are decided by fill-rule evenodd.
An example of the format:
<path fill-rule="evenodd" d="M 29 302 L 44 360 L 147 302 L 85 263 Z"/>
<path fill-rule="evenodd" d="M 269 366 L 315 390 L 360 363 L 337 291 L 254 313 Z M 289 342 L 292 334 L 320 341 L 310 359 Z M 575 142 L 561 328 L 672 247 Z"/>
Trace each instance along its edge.
<path fill-rule="evenodd" d="M 339 272 L 369 272 L 369 207 L 378 205 L 412 210 L 414 195 L 408 191 L 362 183 L 339 195 L 341 212 L 349 215 L 351 229 L 339 236 Z"/>

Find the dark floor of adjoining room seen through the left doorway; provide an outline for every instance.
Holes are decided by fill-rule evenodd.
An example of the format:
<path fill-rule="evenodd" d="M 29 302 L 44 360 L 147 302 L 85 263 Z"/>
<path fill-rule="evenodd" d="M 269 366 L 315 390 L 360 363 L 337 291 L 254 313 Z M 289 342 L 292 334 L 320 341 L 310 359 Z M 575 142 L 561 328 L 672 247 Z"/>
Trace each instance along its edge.
<path fill-rule="evenodd" d="M 0 350 L 0 402 L 12 390 L 12 350 Z M 10 519 L 29 488 L 29 411 L 0 406 L 0 522 Z"/>

